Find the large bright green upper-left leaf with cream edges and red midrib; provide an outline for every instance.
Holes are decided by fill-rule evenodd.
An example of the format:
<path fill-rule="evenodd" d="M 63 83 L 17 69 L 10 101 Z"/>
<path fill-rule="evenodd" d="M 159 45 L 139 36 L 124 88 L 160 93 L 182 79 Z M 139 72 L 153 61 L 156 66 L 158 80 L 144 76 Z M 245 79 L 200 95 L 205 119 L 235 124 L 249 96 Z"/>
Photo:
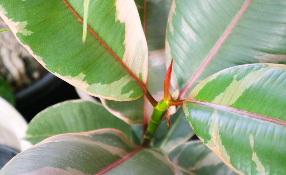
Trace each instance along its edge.
<path fill-rule="evenodd" d="M 82 43 L 82 1 L 0 3 L 0 16 L 47 70 L 88 94 L 111 100 L 146 91 L 148 49 L 134 0 L 93 0 Z"/>

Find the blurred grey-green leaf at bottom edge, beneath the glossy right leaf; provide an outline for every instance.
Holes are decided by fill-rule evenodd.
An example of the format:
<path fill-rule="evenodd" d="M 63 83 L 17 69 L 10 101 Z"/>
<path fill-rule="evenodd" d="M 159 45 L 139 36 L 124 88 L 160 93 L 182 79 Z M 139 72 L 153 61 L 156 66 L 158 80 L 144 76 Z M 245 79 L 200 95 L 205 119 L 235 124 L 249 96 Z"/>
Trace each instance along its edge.
<path fill-rule="evenodd" d="M 189 141 L 168 154 L 177 174 L 236 174 L 200 141 Z"/>

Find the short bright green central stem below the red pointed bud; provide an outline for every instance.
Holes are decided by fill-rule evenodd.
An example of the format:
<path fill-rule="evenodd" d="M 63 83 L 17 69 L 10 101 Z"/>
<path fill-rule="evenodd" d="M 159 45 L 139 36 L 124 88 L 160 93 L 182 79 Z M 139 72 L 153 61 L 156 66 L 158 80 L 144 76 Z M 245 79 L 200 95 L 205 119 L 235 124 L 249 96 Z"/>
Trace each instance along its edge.
<path fill-rule="evenodd" d="M 162 114 L 167 108 L 168 108 L 168 102 L 166 102 L 164 99 L 160 101 L 156 107 L 154 107 L 147 130 L 143 136 L 143 141 L 141 145 L 142 147 L 146 148 L 149 146 L 152 138 L 154 137 L 156 129 L 158 128 L 161 122 Z"/>

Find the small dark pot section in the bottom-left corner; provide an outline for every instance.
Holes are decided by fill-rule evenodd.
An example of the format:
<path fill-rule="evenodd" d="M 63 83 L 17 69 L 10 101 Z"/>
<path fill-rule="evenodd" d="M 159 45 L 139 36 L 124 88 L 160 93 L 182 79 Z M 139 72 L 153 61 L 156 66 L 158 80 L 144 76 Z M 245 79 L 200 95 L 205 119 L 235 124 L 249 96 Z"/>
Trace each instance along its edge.
<path fill-rule="evenodd" d="M 0 169 L 17 154 L 19 154 L 19 151 L 8 146 L 0 145 Z"/>

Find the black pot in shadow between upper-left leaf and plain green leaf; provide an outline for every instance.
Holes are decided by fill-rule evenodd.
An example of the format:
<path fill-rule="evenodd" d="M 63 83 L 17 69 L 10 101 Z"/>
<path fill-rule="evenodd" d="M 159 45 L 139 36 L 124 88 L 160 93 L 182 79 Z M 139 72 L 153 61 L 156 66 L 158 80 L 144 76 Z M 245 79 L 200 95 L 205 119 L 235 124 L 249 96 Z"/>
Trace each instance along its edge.
<path fill-rule="evenodd" d="M 48 106 L 79 97 L 72 85 L 52 73 L 47 73 L 31 86 L 17 92 L 15 98 L 16 109 L 29 122 Z"/>

